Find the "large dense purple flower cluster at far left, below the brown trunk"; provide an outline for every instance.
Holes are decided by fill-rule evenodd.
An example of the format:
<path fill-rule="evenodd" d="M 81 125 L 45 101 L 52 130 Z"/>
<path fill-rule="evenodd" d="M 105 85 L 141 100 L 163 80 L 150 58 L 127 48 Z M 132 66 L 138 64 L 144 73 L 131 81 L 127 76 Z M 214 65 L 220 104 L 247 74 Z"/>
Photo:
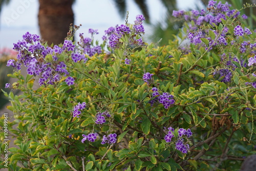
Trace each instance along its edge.
<path fill-rule="evenodd" d="M 18 41 L 14 45 L 14 50 L 18 51 L 17 61 L 10 59 L 7 62 L 8 67 L 20 70 L 24 65 L 27 67 L 29 75 L 40 75 L 39 84 L 54 84 L 61 79 L 62 76 L 69 75 L 67 66 L 60 61 L 58 55 L 64 50 L 73 51 L 75 46 L 72 41 L 65 40 L 62 48 L 54 46 L 53 48 L 44 46 L 35 34 L 27 32 L 23 35 L 23 40 Z"/>

